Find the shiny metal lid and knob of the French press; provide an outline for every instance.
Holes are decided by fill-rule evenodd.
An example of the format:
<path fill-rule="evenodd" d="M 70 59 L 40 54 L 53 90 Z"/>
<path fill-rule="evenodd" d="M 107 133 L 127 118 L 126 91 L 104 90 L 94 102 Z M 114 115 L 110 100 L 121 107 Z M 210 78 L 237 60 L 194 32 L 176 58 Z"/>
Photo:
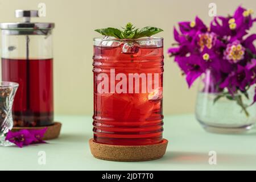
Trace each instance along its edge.
<path fill-rule="evenodd" d="M 54 28 L 54 23 L 39 23 L 39 22 L 30 22 L 32 17 L 39 17 L 38 10 L 15 10 L 16 18 L 23 18 L 23 22 L 18 23 L 0 23 L 0 28 L 2 30 L 21 30 L 26 31 L 35 31 L 35 30 L 44 30 L 50 31 Z M 24 34 L 24 32 L 23 32 Z M 32 34 L 35 34 L 32 33 Z"/>

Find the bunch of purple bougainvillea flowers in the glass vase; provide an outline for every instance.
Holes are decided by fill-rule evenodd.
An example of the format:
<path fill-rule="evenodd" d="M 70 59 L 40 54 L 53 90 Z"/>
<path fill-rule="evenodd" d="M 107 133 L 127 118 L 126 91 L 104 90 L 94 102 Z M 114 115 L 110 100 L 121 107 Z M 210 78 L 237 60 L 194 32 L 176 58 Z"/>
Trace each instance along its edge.
<path fill-rule="evenodd" d="M 247 95 L 247 90 L 256 83 L 256 34 L 249 34 L 255 22 L 253 10 L 241 6 L 232 16 L 214 17 L 209 26 L 199 17 L 180 22 L 179 31 L 174 28 L 177 46 L 168 49 L 168 53 L 175 57 L 188 86 L 210 71 L 211 81 L 216 85 L 213 92 L 227 90 L 232 96 Z M 246 112 L 245 107 L 243 110 Z"/>

